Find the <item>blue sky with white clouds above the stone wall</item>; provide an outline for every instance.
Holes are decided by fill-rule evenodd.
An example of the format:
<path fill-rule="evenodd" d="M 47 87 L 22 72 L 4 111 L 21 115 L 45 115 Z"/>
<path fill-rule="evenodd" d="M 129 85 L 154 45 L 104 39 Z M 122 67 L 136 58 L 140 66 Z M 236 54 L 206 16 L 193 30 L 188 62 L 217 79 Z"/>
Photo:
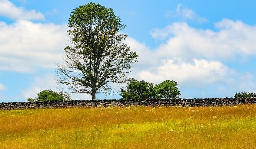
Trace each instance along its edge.
<path fill-rule="evenodd" d="M 174 80 L 181 98 L 256 92 L 256 1 L 0 0 L 0 102 L 58 91 L 55 63 L 63 63 L 69 44 L 70 12 L 89 2 L 112 8 L 127 25 L 124 42 L 139 56 L 128 78 Z"/>

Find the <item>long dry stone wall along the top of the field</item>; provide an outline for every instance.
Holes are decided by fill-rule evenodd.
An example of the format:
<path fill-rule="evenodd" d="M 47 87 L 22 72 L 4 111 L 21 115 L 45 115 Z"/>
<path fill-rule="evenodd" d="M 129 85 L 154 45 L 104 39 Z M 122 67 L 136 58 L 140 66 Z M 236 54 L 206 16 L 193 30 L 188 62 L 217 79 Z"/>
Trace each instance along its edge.
<path fill-rule="evenodd" d="M 109 107 L 109 106 L 221 106 L 256 103 L 256 97 L 247 98 L 194 98 L 194 99 L 103 99 L 42 102 L 2 102 L 0 110 L 49 109 L 70 107 Z"/>

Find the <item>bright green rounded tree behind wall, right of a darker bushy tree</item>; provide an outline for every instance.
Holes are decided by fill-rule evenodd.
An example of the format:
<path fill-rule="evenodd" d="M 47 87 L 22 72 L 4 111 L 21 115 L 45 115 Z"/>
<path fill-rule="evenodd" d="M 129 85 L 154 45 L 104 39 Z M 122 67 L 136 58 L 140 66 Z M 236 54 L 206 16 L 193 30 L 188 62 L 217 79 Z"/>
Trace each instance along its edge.
<path fill-rule="evenodd" d="M 160 96 L 160 98 L 165 99 L 179 98 L 181 94 L 178 89 L 178 83 L 173 80 L 165 80 L 164 82 L 155 86 L 156 94 Z"/>

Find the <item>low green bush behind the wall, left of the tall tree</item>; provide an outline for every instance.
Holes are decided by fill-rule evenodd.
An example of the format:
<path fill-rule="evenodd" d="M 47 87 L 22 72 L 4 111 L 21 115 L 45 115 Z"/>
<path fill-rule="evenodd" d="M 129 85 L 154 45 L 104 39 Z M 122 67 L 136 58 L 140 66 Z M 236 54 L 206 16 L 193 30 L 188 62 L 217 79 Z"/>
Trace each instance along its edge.
<path fill-rule="evenodd" d="M 71 97 L 68 94 L 63 92 L 54 92 L 53 90 L 42 90 L 37 93 L 37 97 L 35 99 L 28 98 L 27 101 L 35 102 L 35 101 L 59 101 L 59 100 L 71 100 Z"/>

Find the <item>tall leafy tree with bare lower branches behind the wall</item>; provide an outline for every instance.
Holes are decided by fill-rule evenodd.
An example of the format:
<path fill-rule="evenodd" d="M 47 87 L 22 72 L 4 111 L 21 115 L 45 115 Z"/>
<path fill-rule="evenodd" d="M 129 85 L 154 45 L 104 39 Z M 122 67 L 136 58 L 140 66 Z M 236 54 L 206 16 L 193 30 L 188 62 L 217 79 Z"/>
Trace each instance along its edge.
<path fill-rule="evenodd" d="M 109 83 L 123 83 L 137 63 L 121 34 L 126 25 L 111 8 L 88 3 L 74 8 L 68 19 L 70 45 L 65 47 L 64 66 L 57 64 L 58 82 L 67 85 L 69 93 L 86 93 L 96 99 L 96 93 L 115 92 Z"/>

